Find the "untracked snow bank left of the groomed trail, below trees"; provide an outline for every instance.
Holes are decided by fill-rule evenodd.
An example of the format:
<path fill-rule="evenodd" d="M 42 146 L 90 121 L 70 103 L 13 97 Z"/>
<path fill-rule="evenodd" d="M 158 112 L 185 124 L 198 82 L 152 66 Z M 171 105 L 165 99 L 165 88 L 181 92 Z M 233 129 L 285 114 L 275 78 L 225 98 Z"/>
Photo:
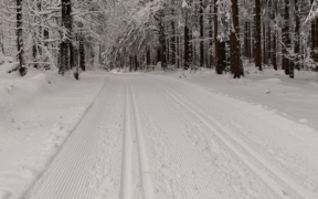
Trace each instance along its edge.
<path fill-rule="evenodd" d="M 100 72 L 62 77 L 30 69 L 26 76 L 0 65 L 0 199 L 28 189 L 56 154 L 104 85 Z"/>

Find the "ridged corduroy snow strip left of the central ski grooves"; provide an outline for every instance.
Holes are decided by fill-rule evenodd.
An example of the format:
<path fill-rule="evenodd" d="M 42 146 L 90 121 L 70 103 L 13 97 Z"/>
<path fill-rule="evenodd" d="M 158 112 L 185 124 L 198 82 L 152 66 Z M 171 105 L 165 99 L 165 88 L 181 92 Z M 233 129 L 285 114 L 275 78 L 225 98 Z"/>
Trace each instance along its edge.
<path fill-rule="evenodd" d="M 121 78 L 119 83 L 116 77 L 110 80 L 51 165 L 23 198 L 89 199 L 104 198 L 106 193 L 110 198 L 118 198 L 119 190 L 116 189 L 120 184 L 118 168 L 121 163 L 117 157 L 121 154 L 124 102 L 120 98 L 124 98 L 124 85 Z M 115 190 L 109 190 L 112 187 Z"/>

